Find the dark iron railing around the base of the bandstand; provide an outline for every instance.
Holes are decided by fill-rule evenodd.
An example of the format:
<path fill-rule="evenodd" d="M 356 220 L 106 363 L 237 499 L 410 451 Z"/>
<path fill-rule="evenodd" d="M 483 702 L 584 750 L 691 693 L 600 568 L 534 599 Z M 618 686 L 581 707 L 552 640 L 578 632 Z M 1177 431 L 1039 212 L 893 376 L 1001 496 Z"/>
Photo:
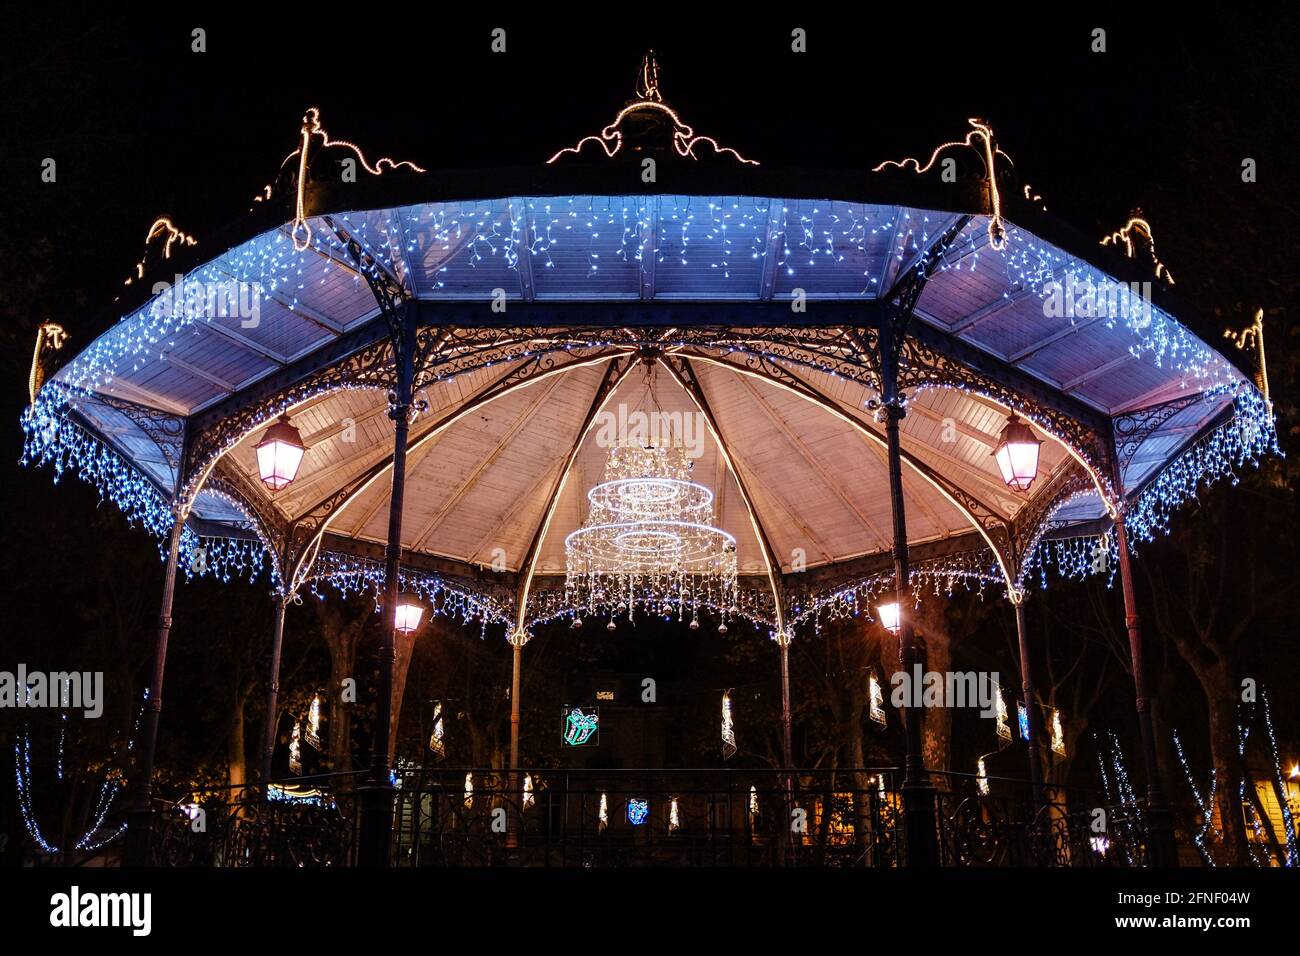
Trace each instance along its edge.
<path fill-rule="evenodd" d="M 467 778 L 469 786 L 467 787 Z M 945 866 L 1141 866 L 1141 809 L 1022 780 L 931 775 Z M 901 774 L 858 770 L 506 770 L 395 777 L 396 866 L 898 866 Z M 363 775 L 211 790 L 161 805 L 173 866 L 350 866 Z M 988 792 L 984 792 L 984 790 Z M 308 793 L 302 796 L 302 793 Z M 298 796 L 294 796 L 294 795 Z"/>

